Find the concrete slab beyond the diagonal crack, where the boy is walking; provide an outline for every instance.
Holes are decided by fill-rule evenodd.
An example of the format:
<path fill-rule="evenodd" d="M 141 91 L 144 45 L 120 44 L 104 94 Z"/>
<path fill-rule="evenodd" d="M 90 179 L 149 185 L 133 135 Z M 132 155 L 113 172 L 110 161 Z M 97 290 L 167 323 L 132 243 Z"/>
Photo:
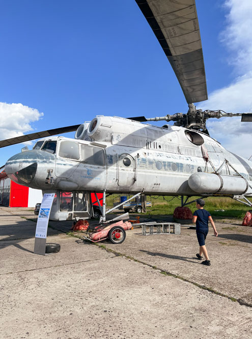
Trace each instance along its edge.
<path fill-rule="evenodd" d="M 199 252 L 197 237 L 195 230 L 188 228 L 182 228 L 181 235 L 153 236 L 139 235 L 137 233 L 141 230 L 135 229 L 127 232 L 127 238 L 122 244 L 106 243 L 106 246 L 252 304 L 252 262 L 248 260 L 252 252 L 252 230 L 240 226 L 242 234 L 236 230 L 228 230 L 227 234 L 221 224 L 216 223 L 216 228 L 219 236 L 215 237 L 212 229 L 209 229 L 206 240 L 211 266 L 202 265 L 196 258 L 195 254 Z M 229 245 L 227 238 L 236 240 L 232 240 L 232 245 Z"/>

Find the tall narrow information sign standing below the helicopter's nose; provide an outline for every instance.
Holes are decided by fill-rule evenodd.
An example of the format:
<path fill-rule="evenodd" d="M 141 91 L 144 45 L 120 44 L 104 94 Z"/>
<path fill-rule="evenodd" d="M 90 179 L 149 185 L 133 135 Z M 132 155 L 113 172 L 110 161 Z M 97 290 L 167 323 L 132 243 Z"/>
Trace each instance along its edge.
<path fill-rule="evenodd" d="M 54 195 L 55 193 L 44 194 L 38 215 L 34 253 L 42 256 L 45 255 L 47 227 Z"/>

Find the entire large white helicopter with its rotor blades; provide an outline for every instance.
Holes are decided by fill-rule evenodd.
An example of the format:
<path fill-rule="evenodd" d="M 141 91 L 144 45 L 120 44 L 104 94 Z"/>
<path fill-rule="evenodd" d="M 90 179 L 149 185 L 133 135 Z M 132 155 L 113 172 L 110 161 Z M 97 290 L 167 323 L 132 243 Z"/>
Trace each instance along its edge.
<path fill-rule="evenodd" d="M 7 161 L 6 174 L 24 186 L 55 193 L 52 220 L 89 217 L 90 192 L 103 193 L 103 221 L 106 194 L 113 193 L 181 196 L 183 206 L 192 196 L 229 196 L 252 206 L 247 199 L 252 196 L 252 162 L 227 151 L 206 128 L 208 118 L 239 115 L 252 121 L 252 114 L 202 111 L 193 104 L 207 100 L 195 1 L 136 3 L 173 67 L 188 112 L 154 118 L 97 116 L 81 125 L 0 141 L 5 147 L 42 137 L 32 150 L 24 147 Z M 141 123 L 158 120 L 175 124 Z M 53 136 L 71 131 L 76 131 L 75 139 Z"/>

